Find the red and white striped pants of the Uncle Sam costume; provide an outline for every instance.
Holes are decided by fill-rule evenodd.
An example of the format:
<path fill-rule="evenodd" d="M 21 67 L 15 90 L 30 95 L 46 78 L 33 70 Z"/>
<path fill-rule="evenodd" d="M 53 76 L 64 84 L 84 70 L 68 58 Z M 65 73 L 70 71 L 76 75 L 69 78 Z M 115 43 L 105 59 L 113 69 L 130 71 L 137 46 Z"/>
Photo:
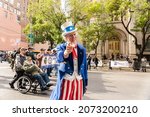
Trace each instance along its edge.
<path fill-rule="evenodd" d="M 83 95 L 82 79 L 73 81 L 63 79 L 60 100 L 81 100 Z"/>

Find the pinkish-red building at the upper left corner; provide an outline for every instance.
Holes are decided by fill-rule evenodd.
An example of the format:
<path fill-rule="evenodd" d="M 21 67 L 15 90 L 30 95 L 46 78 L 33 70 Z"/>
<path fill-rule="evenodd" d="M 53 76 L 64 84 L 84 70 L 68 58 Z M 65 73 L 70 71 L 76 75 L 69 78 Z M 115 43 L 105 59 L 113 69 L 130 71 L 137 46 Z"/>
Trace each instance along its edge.
<path fill-rule="evenodd" d="M 23 1 L 26 0 L 0 0 L 0 50 L 27 47 L 25 39 L 22 39 Z"/>

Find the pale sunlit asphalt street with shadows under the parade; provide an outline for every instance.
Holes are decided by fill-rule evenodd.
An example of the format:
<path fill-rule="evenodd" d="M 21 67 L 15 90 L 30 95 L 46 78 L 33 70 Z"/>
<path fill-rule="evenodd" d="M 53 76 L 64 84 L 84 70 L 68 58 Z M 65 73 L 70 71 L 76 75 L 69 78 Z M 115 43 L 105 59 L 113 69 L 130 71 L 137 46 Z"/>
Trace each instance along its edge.
<path fill-rule="evenodd" d="M 11 89 L 9 82 L 15 73 L 7 62 L 0 63 L 1 100 L 49 100 L 49 91 L 21 94 Z M 150 72 L 123 70 L 89 71 L 89 82 L 84 100 L 148 100 L 150 99 Z M 55 81 L 52 81 L 55 84 Z M 16 87 L 16 86 L 15 86 Z"/>

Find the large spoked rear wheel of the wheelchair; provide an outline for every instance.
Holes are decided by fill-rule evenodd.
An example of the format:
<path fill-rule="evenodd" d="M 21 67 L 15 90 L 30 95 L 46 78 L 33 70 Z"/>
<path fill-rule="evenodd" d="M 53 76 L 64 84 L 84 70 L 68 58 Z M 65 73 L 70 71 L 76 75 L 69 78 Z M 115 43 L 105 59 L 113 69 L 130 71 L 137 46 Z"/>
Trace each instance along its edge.
<path fill-rule="evenodd" d="M 21 76 L 17 82 L 18 91 L 26 94 L 31 89 L 32 81 L 27 76 Z"/>

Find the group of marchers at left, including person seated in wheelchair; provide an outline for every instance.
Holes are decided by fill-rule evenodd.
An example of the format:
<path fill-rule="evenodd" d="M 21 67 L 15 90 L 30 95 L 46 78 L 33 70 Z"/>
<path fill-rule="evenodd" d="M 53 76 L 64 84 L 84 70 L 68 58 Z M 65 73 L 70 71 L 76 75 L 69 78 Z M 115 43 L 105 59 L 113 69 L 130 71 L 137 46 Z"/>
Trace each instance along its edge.
<path fill-rule="evenodd" d="M 14 83 L 24 72 L 31 74 L 32 77 L 39 82 L 41 91 L 48 90 L 52 85 L 48 76 L 51 77 L 50 74 L 53 68 L 57 68 L 57 66 L 52 64 L 53 58 L 55 58 L 56 61 L 56 51 L 41 48 L 40 53 L 35 54 L 33 50 L 33 47 L 29 47 L 28 49 L 19 48 L 17 51 L 11 53 L 11 68 L 16 72 L 13 80 L 9 83 L 11 88 L 15 88 Z M 49 55 L 51 59 L 49 59 L 49 67 L 46 66 L 45 69 L 43 69 L 41 65 L 42 59 L 46 55 Z"/>

